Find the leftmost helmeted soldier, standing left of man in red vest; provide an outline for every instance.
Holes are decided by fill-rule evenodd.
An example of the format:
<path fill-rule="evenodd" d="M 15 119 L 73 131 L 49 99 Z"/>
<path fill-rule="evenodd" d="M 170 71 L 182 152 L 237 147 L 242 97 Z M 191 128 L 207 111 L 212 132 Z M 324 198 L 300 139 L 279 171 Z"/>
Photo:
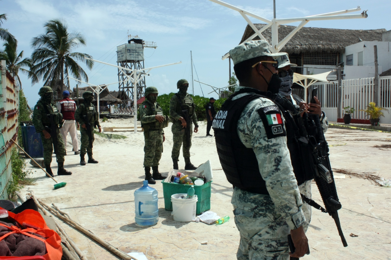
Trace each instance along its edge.
<path fill-rule="evenodd" d="M 71 175 L 70 171 L 64 169 L 64 155 L 65 146 L 63 137 L 60 133 L 60 127 L 63 123 L 63 116 L 58 112 L 56 105 L 53 102 L 53 91 L 49 86 L 44 86 L 39 89 L 38 92 L 41 99 L 38 100 L 34 107 L 32 114 L 32 122 L 35 127 L 35 131 L 41 134 L 43 145 L 43 161 L 45 162 L 46 171 L 50 176 L 54 176 L 50 163 L 52 162 L 53 154 L 53 139 L 50 135 L 50 128 L 55 127 L 57 133 L 57 174 L 58 175 Z M 50 116 L 53 115 L 55 126 L 50 125 Z"/>

